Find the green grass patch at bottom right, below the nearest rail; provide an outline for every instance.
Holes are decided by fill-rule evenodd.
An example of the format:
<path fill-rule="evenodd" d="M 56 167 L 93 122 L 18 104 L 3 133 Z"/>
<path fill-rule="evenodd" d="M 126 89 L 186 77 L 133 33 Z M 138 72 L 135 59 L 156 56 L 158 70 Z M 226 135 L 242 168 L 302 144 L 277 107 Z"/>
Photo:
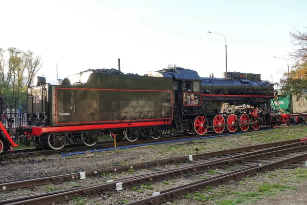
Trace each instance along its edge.
<path fill-rule="evenodd" d="M 206 187 L 204 190 L 186 194 L 184 198 L 200 201 L 198 203 L 204 204 L 258 204 L 262 203 L 259 202 L 261 199 L 270 200 L 272 196 L 283 196 L 284 192 L 293 193 L 299 191 L 299 187 L 294 179 L 299 179 L 299 183 L 307 182 L 306 174 L 307 168 L 297 168 L 294 170 L 279 169 L 273 173 L 261 174 L 260 177 L 248 176 L 243 178 L 242 181 L 231 181 L 228 186 Z M 274 181 L 274 183 L 270 183 L 270 180 Z M 285 195 L 285 197 L 287 196 Z"/>

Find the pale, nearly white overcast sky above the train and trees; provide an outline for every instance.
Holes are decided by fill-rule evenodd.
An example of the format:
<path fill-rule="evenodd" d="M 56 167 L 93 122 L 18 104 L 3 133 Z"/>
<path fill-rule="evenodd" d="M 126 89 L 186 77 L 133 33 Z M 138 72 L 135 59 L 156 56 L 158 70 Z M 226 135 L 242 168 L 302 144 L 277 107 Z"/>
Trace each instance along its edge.
<path fill-rule="evenodd" d="M 307 1 L 0 0 L 0 47 L 41 55 L 47 81 L 89 68 L 124 73 L 169 64 L 202 77 L 228 71 L 278 81 L 287 72 L 289 31 L 307 26 Z M 290 67 L 292 61 L 289 61 Z"/>

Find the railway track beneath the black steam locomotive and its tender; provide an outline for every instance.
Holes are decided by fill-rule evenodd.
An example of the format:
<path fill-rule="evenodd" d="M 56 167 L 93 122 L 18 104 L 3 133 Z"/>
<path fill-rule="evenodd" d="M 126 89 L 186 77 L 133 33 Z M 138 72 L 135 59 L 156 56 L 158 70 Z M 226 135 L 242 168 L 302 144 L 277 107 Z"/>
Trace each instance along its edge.
<path fill-rule="evenodd" d="M 263 127 L 257 131 L 265 131 L 271 129 L 270 127 Z M 133 145 L 142 145 L 142 144 L 150 144 L 155 142 L 166 142 L 166 141 L 173 141 L 173 140 L 184 140 L 184 139 L 194 139 L 194 138 L 206 138 L 206 137 L 218 137 L 218 136 L 226 136 L 226 135 L 235 135 L 235 134 L 244 134 L 249 132 L 256 132 L 256 131 L 246 131 L 246 132 L 236 132 L 236 133 L 224 133 L 224 134 L 216 134 L 210 133 L 206 136 L 200 135 L 167 135 L 160 137 L 159 139 L 143 139 L 137 140 L 134 142 L 130 141 L 118 141 L 116 142 L 116 146 L 125 147 L 125 146 L 133 146 Z M 99 149 L 107 149 L 107 148 L 114 148 L 114 140 L 107 140 L 107 141 L 99 141 L 96 145 L 92 147 L 76 147 L 71 146 L 68 148 L 63 148 L 61 150 L 39 150 L 37 151 L 36 148 L 29 148 L 29 149 L 20 149 L 14 150 L 13 152 L 3 152 L 0 154 L 0 161 L 5 159 L 14 159 L 19 157 L 29 157 L 29 156 L 38 156 L 38 155 L 49 155 L 49 154 L 60 154 L 60 153 L 70 153 L 70 152 L 77 152 L 77 151 L 95 151 Z"/>

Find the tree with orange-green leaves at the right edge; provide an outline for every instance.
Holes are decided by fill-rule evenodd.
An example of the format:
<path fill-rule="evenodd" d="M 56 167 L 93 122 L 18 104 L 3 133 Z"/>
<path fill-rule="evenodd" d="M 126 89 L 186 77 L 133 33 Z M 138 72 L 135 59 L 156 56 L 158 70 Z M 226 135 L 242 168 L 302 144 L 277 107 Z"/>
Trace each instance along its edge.
<path fill-rule="evenodd" d="M 295 48 L 290 56 L 295 60 L 289 77 L 287 73 L 280 79 L 280 85 L 284 94 L 296 96 L 296 100 L 305 97 L 307 99 L 307 27 L 301 32 L 290 32 L 292 44 Z"/>

